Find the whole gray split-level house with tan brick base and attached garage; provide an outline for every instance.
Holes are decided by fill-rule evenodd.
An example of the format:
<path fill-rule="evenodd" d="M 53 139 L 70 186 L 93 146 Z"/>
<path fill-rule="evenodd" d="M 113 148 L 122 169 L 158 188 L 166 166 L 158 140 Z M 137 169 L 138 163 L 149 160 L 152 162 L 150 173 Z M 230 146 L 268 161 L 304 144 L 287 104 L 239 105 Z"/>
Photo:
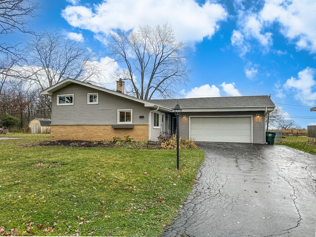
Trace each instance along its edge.
<path fill-rule="evenodd" d="M 176 131 L 173 108 L 182 107 L 179 135 L 195 141 L 265 143 L 265 116 L 275 105 L 269 96 L 141 100 L 67 78 L 41 94 L 52 97 L 51 140 L 112 140 L 129 135 L 157 140 Z"/>

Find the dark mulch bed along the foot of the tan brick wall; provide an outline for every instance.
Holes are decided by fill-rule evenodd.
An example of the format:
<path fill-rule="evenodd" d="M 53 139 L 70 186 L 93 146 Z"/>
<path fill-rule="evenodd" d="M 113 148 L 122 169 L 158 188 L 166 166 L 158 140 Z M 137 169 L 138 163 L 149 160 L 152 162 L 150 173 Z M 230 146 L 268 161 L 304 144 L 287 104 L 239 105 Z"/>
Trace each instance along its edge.
<path fill-rule="evenodd" d="M 58 140 L 58 141 L 43 141 L 40 143 L 31 143 L 20 145 L 23 147 L 33 146 L 65 146 L 65 147 L 115 147 L 115 142 L 96 142 L 82 140 Z"/>

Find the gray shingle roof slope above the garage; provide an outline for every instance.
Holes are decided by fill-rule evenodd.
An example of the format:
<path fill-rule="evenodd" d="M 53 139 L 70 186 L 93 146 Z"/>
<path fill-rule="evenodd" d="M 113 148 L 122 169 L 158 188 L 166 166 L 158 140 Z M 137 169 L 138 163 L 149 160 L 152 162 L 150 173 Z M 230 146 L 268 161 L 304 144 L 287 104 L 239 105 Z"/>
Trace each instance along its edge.
<path fill-rule="evenodd" d="M 260 96 L 231 96 L 231 97 L 204 97 L 169 100 L 148 100 L 157 105 L 174 108 L 179 101 L 181 108 L 216 108 L 216 107 L 249 107 L 275 106 L 268 95 Z"/>

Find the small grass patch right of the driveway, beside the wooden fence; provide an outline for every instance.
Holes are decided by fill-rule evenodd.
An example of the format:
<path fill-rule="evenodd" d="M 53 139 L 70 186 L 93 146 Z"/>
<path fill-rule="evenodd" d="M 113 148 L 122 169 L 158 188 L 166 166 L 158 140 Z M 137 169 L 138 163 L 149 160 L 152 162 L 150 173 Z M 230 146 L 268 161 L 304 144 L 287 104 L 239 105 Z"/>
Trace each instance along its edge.
<path fill-rule="evenodd" d="M 292 147 L 294 149 L 316 155 L 316 144 L 312 142 L 307 142 L 306 136 L 286 136 L 285 138 L 282 138 L 282 143 L 274 144 Z"/>

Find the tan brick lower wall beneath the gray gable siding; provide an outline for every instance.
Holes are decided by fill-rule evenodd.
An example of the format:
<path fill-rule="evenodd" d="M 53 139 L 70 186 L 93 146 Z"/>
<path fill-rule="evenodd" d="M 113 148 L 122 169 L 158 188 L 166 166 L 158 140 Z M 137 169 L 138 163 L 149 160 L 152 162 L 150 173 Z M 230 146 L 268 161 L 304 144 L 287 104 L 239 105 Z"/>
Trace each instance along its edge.
<path fill-rule="evenodd" d="M 103 139 L 112 141 L 111 136 L 124 136 L 140 141 L 148 139 L 148 125 L 134 125 L 134 128 L 112 128 L 111 125 L 51 125 L 51 140 L 85 140 L 102 141 Z"/>

